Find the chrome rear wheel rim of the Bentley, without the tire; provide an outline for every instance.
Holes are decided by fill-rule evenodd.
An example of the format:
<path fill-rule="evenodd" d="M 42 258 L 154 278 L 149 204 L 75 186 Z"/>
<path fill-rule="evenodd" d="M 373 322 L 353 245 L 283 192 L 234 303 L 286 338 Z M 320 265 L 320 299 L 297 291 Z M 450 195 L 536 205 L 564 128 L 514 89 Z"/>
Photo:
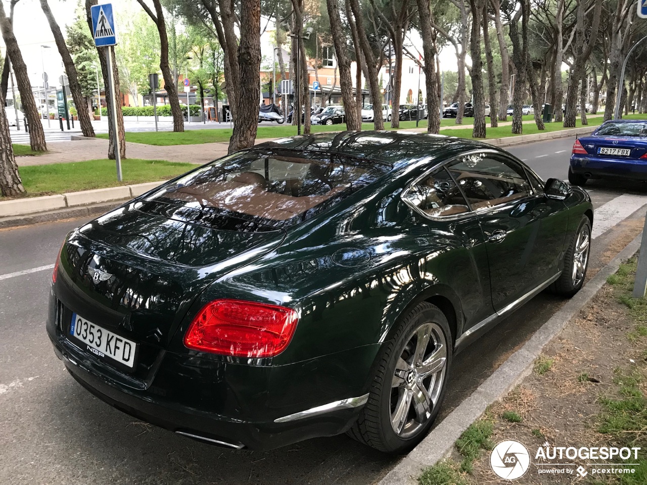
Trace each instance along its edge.
<path fill-rule="evenodd" d="M 391 426 L 400 438 L 423 427 L 443 389 L 447 339 L 436 323 L 423 323 L 411 332 L 395 365 L 391 381 Z"/>

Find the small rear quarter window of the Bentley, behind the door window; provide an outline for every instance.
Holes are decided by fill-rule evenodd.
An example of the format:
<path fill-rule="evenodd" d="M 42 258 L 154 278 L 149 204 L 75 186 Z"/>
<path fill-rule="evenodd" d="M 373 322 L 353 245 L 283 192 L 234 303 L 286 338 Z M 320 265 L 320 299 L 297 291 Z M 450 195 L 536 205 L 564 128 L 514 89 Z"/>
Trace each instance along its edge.
<path fill-rule="evenodd" d="M 419 180 L 403 197 L 431 217 L 455 215 L 470 210 L 461 191 L 444 168 Z"/>

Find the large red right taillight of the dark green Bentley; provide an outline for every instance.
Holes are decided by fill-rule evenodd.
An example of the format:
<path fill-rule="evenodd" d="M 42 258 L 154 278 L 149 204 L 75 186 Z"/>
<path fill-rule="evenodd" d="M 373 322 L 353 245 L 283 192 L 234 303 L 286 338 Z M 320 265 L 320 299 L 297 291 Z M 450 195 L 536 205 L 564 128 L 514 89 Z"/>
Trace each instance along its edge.
<path fill-rule="evenodd" d="M 290 343 L 299 316 L 279 305 L 234 299 L 204 305 L 184 336 L 184 345 L 234 357 L 273 357 Z"/>

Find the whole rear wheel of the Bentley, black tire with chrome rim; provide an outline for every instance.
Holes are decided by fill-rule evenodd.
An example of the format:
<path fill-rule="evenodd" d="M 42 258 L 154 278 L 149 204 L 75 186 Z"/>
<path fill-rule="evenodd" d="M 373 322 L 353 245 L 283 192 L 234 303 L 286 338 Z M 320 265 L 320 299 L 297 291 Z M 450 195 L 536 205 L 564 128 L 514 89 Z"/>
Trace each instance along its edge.
<path fill-rule="evenodd" d="M 452 350 L 443 312 L 419 303 L 382 345 L 368 401 L 348 434 L 386 453 L 405 453 L 421 442 L 443 402 Z"/>

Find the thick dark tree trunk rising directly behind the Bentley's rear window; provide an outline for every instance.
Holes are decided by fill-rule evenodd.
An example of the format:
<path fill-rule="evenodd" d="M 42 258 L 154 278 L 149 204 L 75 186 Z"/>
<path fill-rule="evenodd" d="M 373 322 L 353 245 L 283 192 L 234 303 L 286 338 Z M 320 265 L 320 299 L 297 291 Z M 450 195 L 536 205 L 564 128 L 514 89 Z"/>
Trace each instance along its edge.
<path fill-rule="evenodd" d="M 229 153 L 250 148 L 258 128 L 258 100 L 261 93 L 261 5 L 241 0 L 240 45 L 238 46 L 239 85 L 245 96 L 237 96 L 236 122 L 229 142 Z"/>

